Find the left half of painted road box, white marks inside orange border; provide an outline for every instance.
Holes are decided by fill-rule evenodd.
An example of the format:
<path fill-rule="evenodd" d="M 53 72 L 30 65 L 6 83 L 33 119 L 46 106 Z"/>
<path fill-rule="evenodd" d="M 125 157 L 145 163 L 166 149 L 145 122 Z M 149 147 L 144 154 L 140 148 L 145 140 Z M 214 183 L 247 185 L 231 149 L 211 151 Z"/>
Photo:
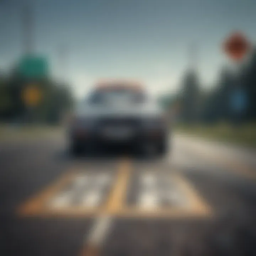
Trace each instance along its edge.
<path fill-rule="evenodd" d="M 95 215 L 108 197 L 113 172 L 79 171 L 64 175 L 57 183 L 18 208 L 21 215 Z"/>

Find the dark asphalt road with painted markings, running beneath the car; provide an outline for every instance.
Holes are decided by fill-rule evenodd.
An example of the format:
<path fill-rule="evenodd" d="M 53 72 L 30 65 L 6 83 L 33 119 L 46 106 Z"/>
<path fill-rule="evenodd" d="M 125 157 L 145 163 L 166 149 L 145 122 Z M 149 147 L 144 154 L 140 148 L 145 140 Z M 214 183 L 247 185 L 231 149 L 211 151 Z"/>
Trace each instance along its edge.
<path fill-rule="evenodd" d="M 0 144 L 0 255 L 256 255 L 255 152 L 174 135 L 164 159 Z"/>

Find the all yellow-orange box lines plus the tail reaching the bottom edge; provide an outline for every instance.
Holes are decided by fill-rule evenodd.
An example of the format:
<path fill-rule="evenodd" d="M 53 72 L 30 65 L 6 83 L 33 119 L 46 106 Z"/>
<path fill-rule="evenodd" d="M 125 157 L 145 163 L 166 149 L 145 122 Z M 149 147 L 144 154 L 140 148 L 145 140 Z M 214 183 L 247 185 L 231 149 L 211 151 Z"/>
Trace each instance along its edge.
<path fill-rule="evenodd" d="M 156 170 L 157 171 L 157 170 Z M 81 172 L 80 172 L 81 173 Z M 65 209 L 49 210 L 46 203 L 53 198 L 65 185 L 67 185 L 78 174 L 75 171 L 69 171 L 63 175 L 57 182 L 46 188 L 36 197 L 31 198 L 25 204 L 18 208 L 19 215 L 58 215 L 59 217 L 67 216 L 88 216 L 97 217 L 96 227 L 92 230 L 89 237 L 94 239 L 86 239 L 85 245 L 82 246 L 80 256 L 97 256 L 101 250 L 101 240 L 105 240 L 110 227 L 104 221 L 107 217 L 131 217 L 131 218 L 193 218 L 193 217 L 211 217 L 212 209 L 204 202 L 203 198 L 197 193 L 190 182 L 179 174 L 177 171 L 170 172 L 169 175 L 174 179 L 175 183 L 181 188 L 187 203 L 185 206 L 170 206 L 166 209 L 142 209 L 138 206 L 127 206 L 126 195 L 130 176 L 132 174 L 131 160 L 126 158 L 119 162 L 116 177 L 113 182 L 112 189 L 107 197 L 107 201 L 99 208 L 84 207 L 67 207 Z M 188 205 L 186 205 L 188 204 Z M 96 230 L 96 231 L 95 231 Z M 99 242 L 100 241 L 100 242 Z"/>

